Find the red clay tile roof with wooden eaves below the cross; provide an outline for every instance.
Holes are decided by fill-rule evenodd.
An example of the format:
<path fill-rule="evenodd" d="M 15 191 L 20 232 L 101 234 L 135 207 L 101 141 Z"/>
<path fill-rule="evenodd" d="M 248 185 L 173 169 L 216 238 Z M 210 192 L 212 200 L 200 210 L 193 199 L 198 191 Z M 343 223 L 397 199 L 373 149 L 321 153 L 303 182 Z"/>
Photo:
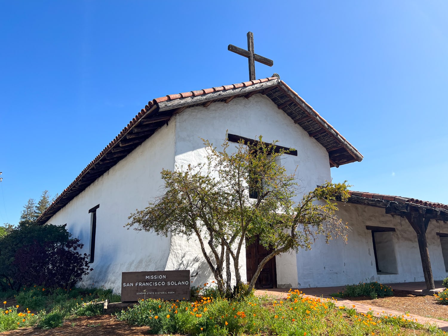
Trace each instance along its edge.
<path fill-rule="evenodd" d="M 249 98 L 254 93 L 260 93 L 270 98 L 297 125 L 324 146 L 328 151 L 331 167 L 339 167 L 340 164 L 362 160 L 362 155 L 353 145 L 278 77 L 166 95 L 149 101 L 145 108 L 138 112 L 120 134 L 109 142 L 103 151 L 56 198 L 55 202 L 43 212 L 37 223 L 43 224 L 49 220 L 52 215 L 65 207 L 88 185 L 154 134 L 159 127 L 168 122 L 174 114 L 181 112 L 183 108 L 196 105 L 208 106 L 211 102 L 224 102 L 233 97 Z M 203 99 L 199 96 L 202 96 Z M 201 100 L 198 102 L 196 99 Z M 173 103 L 177 104 L 176 108 L 172 108 L 171 104 Z M 205 105 L 206 103 L 208 105 Z M 152 126 L 146 126 L 148 124 Z"/>

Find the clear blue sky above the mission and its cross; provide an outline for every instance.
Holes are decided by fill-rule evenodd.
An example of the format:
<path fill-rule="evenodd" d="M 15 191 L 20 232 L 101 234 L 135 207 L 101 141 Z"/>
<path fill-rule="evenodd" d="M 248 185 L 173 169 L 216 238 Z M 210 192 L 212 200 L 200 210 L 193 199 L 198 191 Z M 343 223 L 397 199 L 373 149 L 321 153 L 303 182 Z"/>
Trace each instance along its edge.
<path fill-rule="evenodd" d="M 364 155 L 353 190 L 448 203 L 446 1 L 0 1 L 0 224 L 156 97 L 279 73 Z"/>

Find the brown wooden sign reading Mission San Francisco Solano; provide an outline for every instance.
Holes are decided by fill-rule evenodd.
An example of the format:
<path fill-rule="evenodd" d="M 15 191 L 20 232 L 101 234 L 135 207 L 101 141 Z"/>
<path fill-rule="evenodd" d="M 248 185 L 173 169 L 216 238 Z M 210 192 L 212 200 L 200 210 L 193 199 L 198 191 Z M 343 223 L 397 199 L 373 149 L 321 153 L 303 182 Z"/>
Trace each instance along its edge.
<path fill-rule="evenodd" d="M 121 301 L 190 300 L 190 271 L 121 273 Z"/>

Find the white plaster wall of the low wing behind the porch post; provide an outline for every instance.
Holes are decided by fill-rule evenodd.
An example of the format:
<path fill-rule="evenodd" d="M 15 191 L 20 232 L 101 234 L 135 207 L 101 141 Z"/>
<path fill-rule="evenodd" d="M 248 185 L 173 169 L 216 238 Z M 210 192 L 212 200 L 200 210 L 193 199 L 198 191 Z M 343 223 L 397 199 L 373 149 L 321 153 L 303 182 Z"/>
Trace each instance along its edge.
<path fill-rule="evenodd" d="M 386 215 L 384 209 L 339 202 L 339 216 L 352 228 L 345 245 L 340 239 L 325 244 L 316 241 L 310 251 L 297 254 L 299 287 L 324 287 L 355 284 L 369 280 L 381 283 L 424 281 L 417 235 L 409 222 Z M 395 228 L 391 233 L 398 274 L 377 274 L 371 231 L 366 225 Z M 447 276 L 439 236 L 444 228 L 431 220 L 426 233 L 434 280 Z M 446 224 L 445 224 L 446 226 Z M 445 228 L 448 231 L 448 227 Z"/>

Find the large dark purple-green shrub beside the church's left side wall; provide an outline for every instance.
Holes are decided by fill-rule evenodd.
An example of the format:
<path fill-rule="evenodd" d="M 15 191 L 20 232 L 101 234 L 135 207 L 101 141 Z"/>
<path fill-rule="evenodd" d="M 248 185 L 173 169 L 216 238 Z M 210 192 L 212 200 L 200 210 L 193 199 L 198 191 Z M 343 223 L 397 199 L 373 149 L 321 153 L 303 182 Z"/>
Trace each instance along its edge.
<path fill-rule="evenodd" d="M 82 244 L 63 226 L 19 225 L 0 237 L 0 287 L 20 290 L 45 285 L 48 289 L 75 284 L 91 271 Z"/>

